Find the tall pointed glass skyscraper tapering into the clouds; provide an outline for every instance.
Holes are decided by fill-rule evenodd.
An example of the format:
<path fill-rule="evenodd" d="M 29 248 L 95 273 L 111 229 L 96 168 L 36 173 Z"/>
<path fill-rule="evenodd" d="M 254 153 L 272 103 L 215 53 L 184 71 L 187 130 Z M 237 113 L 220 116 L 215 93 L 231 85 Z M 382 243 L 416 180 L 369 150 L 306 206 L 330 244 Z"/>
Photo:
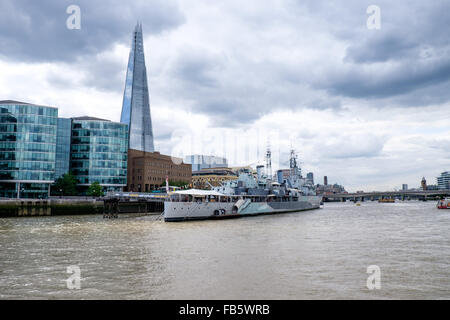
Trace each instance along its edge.
<path fill-rule="evenodd" d="M 120 122 L 128 124 L 130 149 L 155 151 L 140 23 L 133 32 Z"/>

